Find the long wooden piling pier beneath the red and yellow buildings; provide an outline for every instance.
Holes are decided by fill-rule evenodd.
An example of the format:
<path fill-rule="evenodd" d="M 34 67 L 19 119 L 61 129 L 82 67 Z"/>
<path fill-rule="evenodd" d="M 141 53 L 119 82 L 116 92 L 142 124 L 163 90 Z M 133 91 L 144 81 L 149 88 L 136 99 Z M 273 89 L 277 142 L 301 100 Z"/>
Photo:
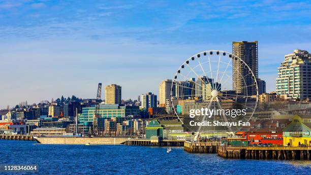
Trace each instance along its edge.
<path fill-rule="evenodd" d="M 311 160 L 311 148 L 219 146 L 217 155 L 232 159 Z"/>

